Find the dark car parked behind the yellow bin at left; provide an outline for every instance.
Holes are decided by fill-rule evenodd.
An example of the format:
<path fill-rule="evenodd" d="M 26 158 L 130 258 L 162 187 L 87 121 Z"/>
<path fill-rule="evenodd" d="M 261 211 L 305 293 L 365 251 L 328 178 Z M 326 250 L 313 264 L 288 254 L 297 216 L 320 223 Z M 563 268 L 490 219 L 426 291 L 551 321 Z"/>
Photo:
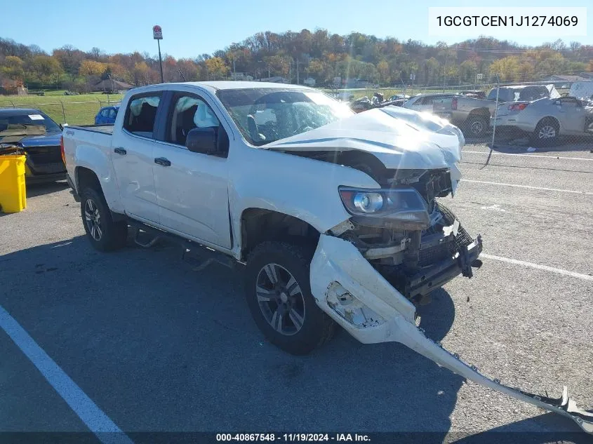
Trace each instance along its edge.
<path fill-rule="evenodd" d="M 26 130 L 23 132 L 23 130 Z M 0 143 L 11 142 L 27 156 L 27 182 L 65 180 L 60 150 L 62 128 L 39 109 L 0 109 Z"/>

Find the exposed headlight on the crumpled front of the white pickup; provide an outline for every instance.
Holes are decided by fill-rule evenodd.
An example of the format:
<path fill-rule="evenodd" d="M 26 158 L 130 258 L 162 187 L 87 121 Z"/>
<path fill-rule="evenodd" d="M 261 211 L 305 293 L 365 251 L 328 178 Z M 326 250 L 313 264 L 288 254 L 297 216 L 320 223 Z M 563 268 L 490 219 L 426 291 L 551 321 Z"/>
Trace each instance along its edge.
<path fill-rule="evenodd" d="M 374 225 L 384 221 L 419 229 L 429 226 L 427 203 L 412 187 L 393 189 L 357 189 L 340 187 L 340 198 L 348 213 Z"/>

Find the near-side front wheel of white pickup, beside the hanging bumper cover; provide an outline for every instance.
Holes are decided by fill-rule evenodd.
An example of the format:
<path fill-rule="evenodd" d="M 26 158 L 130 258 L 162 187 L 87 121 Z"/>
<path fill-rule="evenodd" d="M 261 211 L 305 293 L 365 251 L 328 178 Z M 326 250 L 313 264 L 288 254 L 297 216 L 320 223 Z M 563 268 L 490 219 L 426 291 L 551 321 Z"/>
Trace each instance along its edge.
<path fill-rule="evenodd" d="M 311 248 L 264 242 L 247 260 L 245 293 L 253 320 L 269 342 L 294 355 L 321 347 L 335 328 L 311 294 L 311 258 Z"/>

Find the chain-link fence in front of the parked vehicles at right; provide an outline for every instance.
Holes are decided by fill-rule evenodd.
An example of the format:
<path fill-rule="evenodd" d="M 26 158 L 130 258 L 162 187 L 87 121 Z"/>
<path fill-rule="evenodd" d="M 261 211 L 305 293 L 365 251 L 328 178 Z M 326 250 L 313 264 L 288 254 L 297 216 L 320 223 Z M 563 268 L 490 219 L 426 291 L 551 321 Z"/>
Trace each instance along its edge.
<path fill-rule="evenodd" d="M 467 143 L 524 147 L 528 152 L 567 145 L 593 150 L 593 73 L 590 79 L 550 74 L 542 81 L 502 82 L 494 75 L 461 85 L 322 90 L 355 111 L 365 109 L 355 105 L 365 97 L 366 109 L 381 106 L 371 104 L 379 93 L 394 106 L 437 114 L 458 126 Z"/>

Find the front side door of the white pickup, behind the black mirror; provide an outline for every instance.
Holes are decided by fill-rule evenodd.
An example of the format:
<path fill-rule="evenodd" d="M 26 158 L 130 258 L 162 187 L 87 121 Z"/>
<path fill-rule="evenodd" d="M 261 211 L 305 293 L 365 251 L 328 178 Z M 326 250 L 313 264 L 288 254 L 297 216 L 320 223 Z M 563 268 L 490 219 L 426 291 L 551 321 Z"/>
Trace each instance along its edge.
<path fill-rule="evenodd" d="M 230 128 L 220 126 L 223 119 L 213 111 L 209 97 L 182 91 L 168 91 L 166 97 L 165 128 L 154 147 L 152 165 L 161 225 L 231 248 L 227 158 L 185 147 L 193 128 L 215 127 L 231 134 Z"/>

